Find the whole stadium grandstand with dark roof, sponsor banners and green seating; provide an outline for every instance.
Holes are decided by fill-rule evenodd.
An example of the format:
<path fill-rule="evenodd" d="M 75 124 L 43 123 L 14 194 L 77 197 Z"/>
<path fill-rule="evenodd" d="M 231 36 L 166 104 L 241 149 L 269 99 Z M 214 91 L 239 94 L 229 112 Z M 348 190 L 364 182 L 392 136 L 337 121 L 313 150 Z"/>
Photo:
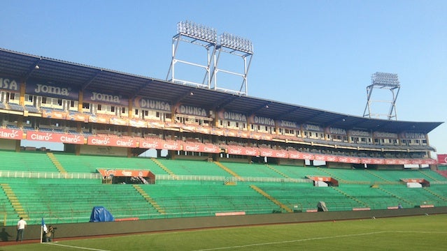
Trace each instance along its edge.
<path fill-rule="evenodd" d="M 441 122 L 351 116 L 5 49 L 0 121 L 4 226 L 89 222 L 94 206 L 115 220 L 306 213 L 320 201 L 329 211 L 447 206 L 428 137 Z"/>

